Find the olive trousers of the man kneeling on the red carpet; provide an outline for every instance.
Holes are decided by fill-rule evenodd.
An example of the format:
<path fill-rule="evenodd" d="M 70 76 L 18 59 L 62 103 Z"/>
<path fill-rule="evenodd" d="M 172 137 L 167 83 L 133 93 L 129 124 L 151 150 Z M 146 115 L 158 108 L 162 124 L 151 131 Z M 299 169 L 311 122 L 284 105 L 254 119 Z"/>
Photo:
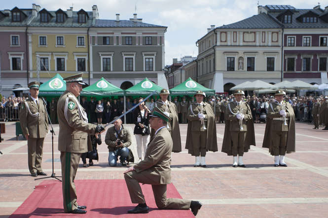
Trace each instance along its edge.
<path fill-rule="evenodd" d="M 180 198 L 167 198 L 166 184 L 159 184 L 159 175 L 151 175 L 153 172 L 153 170 L 147 169 L 139 173 L 130 171 L 124 174 L 125 183 L 128 187 L 132 203 L 146 203 L 145 196 L 139 184 L 142 183 L 151 185 L 158 209 L 188 210 L 191 201 Z"/>

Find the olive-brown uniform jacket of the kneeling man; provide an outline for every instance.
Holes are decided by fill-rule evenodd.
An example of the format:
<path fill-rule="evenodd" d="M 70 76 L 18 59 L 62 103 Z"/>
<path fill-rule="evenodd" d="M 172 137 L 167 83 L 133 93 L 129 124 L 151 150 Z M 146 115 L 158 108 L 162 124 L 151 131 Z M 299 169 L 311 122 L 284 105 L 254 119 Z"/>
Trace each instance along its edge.
<path fill-rule="evenodd" d="M 171 183 L 171 151 L 173 141 L 166 127 L 161 128 L 147 145 L 145 159 L 134 165 L 137 173 L 147 170 L 149 181 L 157 181 L 156 184 Z M 151 179 L 150 179 L 151 178 Z"/>

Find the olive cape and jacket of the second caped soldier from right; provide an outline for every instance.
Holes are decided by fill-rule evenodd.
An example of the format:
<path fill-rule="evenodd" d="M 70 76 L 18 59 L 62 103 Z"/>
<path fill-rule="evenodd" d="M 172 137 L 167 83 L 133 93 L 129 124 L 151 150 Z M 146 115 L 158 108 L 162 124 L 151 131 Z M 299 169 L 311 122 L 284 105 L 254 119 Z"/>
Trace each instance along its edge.
<path fill-rule="evenodd" d="M 226 107 L 224 113 L 225 126 L 221 152 L 226 153 L 228 156 L 232 155 L 232 140 L 230 131 L 241 131 L 239 120 L 237 119 L 236 115 L 240 109 L 243 109 L 243 114 L 245 116 L 243 119 L 243 131 L 247 131 L 244 142 L 244 152 L 248 152 L 251 148 L 251 145 L 256 146 L 251 108 L 245 102 L 241 102 L 240 105 L 238 105 L 237 102 L 229 102 L 227 105 L 228 106 Z"/>

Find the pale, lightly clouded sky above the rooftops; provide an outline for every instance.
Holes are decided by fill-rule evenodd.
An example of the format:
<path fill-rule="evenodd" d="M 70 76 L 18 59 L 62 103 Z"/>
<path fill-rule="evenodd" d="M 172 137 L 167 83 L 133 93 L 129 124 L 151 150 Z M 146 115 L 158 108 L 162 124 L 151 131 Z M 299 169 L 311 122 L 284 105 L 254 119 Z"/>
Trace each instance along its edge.
<path fill-rule="evenodd" d="M 310 9 L 318 0 L 0 0 L 0 9 L 32 8 L 32 3 L 47 10 L 61 8 L 66 11 L 73 6 L 92 11 L 96 4 L 100 19 L 120 20 L 133 18 L 136 12 L 144 23 L 168 27 L 165 33 L 165 65 L 172 59 L 183 56 L 197 57 L 196 41 L 207 33 L 211 25 L 216 27 L 238 22 L 257 14 L 257 3 L 289 4 L 299 9 Z M 319 1 L 321 8 L 328 6 L 328 0 Z M 137 11 L 136 11 L 137 9 Z"/>

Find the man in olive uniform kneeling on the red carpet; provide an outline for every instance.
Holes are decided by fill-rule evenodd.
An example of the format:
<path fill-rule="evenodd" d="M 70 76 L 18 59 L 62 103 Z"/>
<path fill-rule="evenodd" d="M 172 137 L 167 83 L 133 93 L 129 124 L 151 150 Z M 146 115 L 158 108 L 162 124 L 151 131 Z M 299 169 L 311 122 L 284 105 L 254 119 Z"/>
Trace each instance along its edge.
<path fill-rule="evenodd" d="M 170 161 L 173 146 L 166 124 L 171 118 L 157 107 L 154 108 L 150 117 L 150 125 L 155 130 L 155 135 L 147 146 L 145 159 L 124 172 L 131 201 L 138 203 L 128 213 L 146 214 L 149 212 L 145 196 L 139 185 L 139 183 L 143 183 L 151 185 L 158 209 L 188 210 L 190 208 L 196 216 L 202 206 L 200 202 L 166 197 L 166 185 L 171 183 Z"/>

